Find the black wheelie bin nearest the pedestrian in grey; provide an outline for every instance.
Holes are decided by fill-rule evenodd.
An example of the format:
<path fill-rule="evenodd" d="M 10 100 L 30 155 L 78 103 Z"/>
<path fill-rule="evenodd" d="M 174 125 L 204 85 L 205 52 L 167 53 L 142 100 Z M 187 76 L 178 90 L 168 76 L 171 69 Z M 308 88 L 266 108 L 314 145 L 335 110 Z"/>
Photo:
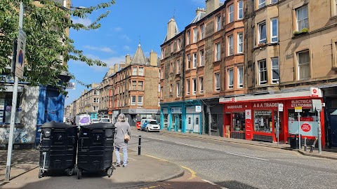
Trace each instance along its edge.
<path fill-rule="evenodd" d="M 81 126 L 77 154 L 77 179 L 81 179 L 83 171 L 106 172 L 109 177 L 112 175 L 114 130 L 112 123 Z"/>

